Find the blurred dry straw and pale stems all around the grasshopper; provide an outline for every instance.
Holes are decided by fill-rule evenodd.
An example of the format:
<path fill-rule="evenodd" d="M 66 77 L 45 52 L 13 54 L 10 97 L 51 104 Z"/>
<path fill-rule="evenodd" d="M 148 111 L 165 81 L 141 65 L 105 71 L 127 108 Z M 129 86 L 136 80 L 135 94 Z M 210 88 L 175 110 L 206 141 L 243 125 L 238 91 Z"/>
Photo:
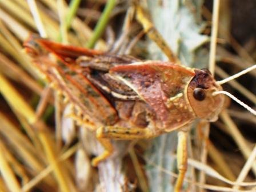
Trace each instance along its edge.
<path fill-rule="evenodd" d="M 39 33 L 31 14 L 38 9 L 53 41 L 166 61 L 142 33 L 133 3 L 37 0 L 35 7 L 27 2 L 33 5 L 0 0 L 0 191 L 172 191 L 177 133 L 133 143 L 128 153 L 91 167 L 98 153 L 94 136 L 65 118 L 68 109 L 58 90 L 42 80 L 22 51 L 29 34 Z M 141 5 L 183 65 L 209 66 L 213 1 Z M 215 77 L 223 79 L 255 64 L 256 2 L 222 0 L 218 9 Z M 255 76 L 251 71 L 223 87 L 254 107 Z M 195 161 L 189 163 L 187 191 L 256 191 L 255 185 L 232 182 L 255 181 L 256 118 L 229 99 L 226 107 L 217 122 L 196 122 L 191 130 L 189 154 Z M 128 146 L 117 145 L 121 151 Z"/>

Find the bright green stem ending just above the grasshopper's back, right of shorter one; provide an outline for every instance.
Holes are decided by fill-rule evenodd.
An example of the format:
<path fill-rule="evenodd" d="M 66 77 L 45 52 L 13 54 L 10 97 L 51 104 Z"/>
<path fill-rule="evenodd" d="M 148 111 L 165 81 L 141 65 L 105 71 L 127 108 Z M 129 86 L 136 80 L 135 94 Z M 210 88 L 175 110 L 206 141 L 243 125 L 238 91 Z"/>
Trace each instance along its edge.
<path fill-rule="evenodd" d="M 109 0 L 106 4 L 106 7 L 99 18 L 99 21 L 94 29 L 93 37 L 90 38 L 89 42 L 87 43 L 87 47 L 92 49 L 95 46 L 95 43 L 101 37 L 103 30 L 105 29 L 107 22 L 109 22 L 111 11 L 115 6 L 115 0 Z"/>

